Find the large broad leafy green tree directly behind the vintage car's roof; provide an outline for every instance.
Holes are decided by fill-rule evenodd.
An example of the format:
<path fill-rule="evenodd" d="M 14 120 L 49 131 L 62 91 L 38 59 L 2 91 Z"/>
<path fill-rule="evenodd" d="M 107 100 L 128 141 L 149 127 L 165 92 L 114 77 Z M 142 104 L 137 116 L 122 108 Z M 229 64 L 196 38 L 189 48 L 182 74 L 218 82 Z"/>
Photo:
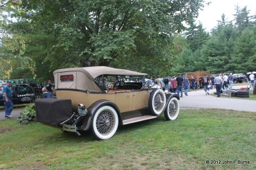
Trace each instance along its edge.
<path fill-rule="evenodd" d="M 160 53 L 166 57 L 156 55 L 156 49 L 168 48 L 168 43 L 159 42 L 168 42 L 173 33 L 184 30 L 182 22 L 196 17 L 201 7 L 202 0 L 22 1 L 37 34 L 52 35 L 45 59 L 52 69 L 109 66 L 115 59 L 130 57 L 131 52 L 141 57 L 141 48 L 150 50 L 144 53 L 147 60 L 168 59 L 168 50 Z M 138 48 L 141 39 L 150 47 Z"/>

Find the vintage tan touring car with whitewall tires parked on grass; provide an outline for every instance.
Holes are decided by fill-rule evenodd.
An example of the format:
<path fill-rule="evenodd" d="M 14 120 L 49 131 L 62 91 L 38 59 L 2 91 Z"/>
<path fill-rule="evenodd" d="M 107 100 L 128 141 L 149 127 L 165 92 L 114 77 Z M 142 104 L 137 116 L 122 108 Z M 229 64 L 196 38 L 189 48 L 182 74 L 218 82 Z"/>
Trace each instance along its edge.
<path fill-rule="evenodd" d="M 36 118 L 62 131 L 91 129 L 95 138 L 109 139 L 120 124 L 179 115 L 179 96 L 147 85 L 145 73 L 97 66 L 53 74 L 57 99 L 36 100 Z"/>

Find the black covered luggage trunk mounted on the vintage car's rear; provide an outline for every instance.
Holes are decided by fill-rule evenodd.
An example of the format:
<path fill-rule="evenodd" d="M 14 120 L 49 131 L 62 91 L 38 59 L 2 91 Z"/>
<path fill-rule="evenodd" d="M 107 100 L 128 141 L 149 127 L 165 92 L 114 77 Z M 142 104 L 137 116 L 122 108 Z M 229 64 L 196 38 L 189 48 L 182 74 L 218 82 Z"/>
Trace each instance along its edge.
<path fill-rule="evenodd" d="M 35 104 L 36 120 L 43 124 L 60 125 L 73 115 L 69 99 L 37 99 Z"/>

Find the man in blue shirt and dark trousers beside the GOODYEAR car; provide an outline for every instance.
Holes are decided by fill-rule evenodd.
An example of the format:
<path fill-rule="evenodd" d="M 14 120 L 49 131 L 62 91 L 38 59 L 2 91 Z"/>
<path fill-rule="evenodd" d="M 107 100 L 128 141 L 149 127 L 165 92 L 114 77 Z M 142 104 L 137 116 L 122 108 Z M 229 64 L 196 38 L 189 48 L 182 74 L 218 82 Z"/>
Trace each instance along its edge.
<path fill-rule="evenodd" d="M 5 117 L 12 118 L 12 90 L 11 90 L 11 81 L 7 80 L 6 85 L 3 88 L 3 100 L 4 100 L 4 108 L 5 108 Z"/>

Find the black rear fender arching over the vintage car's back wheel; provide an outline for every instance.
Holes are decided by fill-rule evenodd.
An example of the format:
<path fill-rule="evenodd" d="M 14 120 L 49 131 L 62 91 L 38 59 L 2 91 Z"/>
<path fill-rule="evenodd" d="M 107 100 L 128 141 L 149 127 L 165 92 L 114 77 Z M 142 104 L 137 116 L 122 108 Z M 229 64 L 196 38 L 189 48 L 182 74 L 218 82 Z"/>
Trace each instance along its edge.
<path fill-rule="evenodd" d="M 115 103 L 108 100 L 99 100 L 93 103 L 91 106 L 89 106 L 89 108 L 87 109 L 88 115 L 84 118 L 83 124 L 79 130 L 88 131 L 92 126 L 92 122 L 93 122 L 92 120 L 97 110 L 99 110 L 99 108 L 101 108 L 102 106 L 106 106 L 106 105 L 112 106 L 116 110 L 116 112 L 118 113 L 118 119 L 120 120 L 120 110 Z"/>

